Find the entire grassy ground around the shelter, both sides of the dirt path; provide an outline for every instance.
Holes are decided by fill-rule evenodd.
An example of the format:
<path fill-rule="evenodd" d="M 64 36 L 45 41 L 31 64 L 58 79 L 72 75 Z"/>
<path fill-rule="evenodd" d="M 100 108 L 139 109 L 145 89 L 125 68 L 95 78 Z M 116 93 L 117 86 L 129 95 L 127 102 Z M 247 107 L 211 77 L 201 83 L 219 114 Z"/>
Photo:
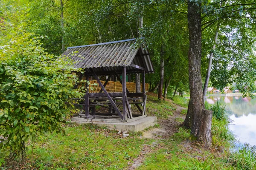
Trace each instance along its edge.
<path fill-rule="evenodd" d="M 122 137 L 116 130 L 108 130 L 96 125 L 63 125 L 66 135 L 46 134 L 39 136 L 35 142 L 27 143 L 27 161 L 18 166 L 7 167 L 0 153 L 0 169 L 36 169 L 36 170 L 122 170 L 131 168 L 139 159 L 138 170 L 243 170 L 256 169 L 256 155 L 252 159 L 248 150 L 230 153 L 232 134 L 228 131 L 227 120 L 213 119 L 211 150 L 206 150 L 199 143 L 186 142 L 189 130 L 180 127 L 186 109 L 177 113 L 176 105 L 186 107 L 187 100 L 177 96 L 174 102 L 157 101 L 154 95 L 148 95 L 147 113 L 157 116 L 159 122 L 175 120 L 174 133 L 164 138 L 156 135 L 152 139 L 142 136 L 143 132 L 132 133 Z M 176 105 L 175 105 L 176 104 Z M 175 111 L 175 114 L 173 112 Z M 161 129 L 162 125 L 148 128 L 148 132 Z M 169 126 L 170 128 L 170 126 Z M 157 142 L 157 146 L 153 143 Z M 147 147 L 143 147 L 143 146 Z M 33 152 L 33 153 L 32 153 Z M 146 152 L 142 156 L 142 152 Z M 143 157 L 143 159 L 141 159 Z M 33 164 L 31 160 L 33 158 Z M 15 162 L 17 164 L 17 161 Z"/>

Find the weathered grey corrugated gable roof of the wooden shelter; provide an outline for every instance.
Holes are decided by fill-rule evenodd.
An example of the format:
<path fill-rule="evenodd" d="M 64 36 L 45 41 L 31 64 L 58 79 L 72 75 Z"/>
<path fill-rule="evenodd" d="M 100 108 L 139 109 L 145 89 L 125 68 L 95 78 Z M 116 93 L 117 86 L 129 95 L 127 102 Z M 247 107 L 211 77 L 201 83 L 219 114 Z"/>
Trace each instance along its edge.
<path fill-rule="evenodd" d="M 136 39 L 105 42 L 92 45 L 68 47 L 62 54 L 75 61 L 75 68 L 84 68 L 98 75 L 122 72 L 126 66 L 127 74 L 154 73 L 148 50 L 136 44 Z"/>

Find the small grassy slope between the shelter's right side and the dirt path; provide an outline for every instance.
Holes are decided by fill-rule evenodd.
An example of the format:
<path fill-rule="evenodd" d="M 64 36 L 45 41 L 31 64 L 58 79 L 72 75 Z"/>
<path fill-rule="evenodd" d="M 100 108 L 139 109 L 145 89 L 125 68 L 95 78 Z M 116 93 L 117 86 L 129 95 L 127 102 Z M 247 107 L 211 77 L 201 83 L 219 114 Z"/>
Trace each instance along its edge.
<path fill-rule="evenodd" d="M 171 102 L 157 100 L 157 97 L 154 96 L 147 96 L 146 109 L 148 116 L 157 116 L 157 119 L 167 119 L 175 111 Z"/>

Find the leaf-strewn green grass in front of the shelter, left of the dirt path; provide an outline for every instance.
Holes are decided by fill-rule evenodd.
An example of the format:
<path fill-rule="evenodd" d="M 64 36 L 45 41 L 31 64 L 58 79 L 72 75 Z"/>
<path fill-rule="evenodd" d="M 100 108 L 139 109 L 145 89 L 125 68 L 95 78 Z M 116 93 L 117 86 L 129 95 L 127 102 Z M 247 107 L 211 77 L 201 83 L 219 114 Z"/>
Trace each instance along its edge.
<path fill-rule="evenodd" d="M 129 133 L 130 136 L 123 138 L 116 130 L 96 125 L 67 124 L 63 128 L 66 136 L 53 133 L 38 137 L 33 167 L 41 170 L 122 169 L 140 154 L 142 144 L 153 142 L 140 139 L 138 133 Z M 32 159 L 31 147 L 27 156 Z"/>

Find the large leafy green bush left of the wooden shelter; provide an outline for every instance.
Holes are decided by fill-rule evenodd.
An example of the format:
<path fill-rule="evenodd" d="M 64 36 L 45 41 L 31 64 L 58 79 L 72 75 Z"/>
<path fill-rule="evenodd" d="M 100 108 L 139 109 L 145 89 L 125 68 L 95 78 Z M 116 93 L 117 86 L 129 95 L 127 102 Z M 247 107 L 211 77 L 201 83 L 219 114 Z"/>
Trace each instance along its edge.
<path fill-rule="evenodd" d="M 69 98 L 82 93 L 73 90 L 77 77 L 70 74 L 74 68 L 68 66 L 69 59 L 44 52 L 39 41 L 43 37 L 22 27 L 10 30 L 0 44 L 0 149 L 24 159 L 25 142 L 61 132 L 61 122 L 70 113 Z"/>

